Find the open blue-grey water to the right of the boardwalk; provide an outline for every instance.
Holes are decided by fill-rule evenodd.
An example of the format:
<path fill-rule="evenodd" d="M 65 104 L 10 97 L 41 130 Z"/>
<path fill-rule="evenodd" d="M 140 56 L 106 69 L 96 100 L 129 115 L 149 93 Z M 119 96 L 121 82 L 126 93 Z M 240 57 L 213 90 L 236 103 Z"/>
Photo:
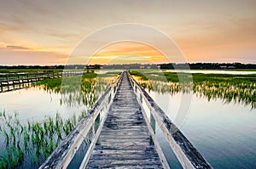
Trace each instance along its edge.
<path fill-rule="evenodd" d="M 150 95 L 174 119 L 181 94 Z M 256 166 L 256 109 L 224 104 L 220 99 L 193 95 L 189 115 L 180 128 L 184 135 L 214 168 L 253 168 Z"/>

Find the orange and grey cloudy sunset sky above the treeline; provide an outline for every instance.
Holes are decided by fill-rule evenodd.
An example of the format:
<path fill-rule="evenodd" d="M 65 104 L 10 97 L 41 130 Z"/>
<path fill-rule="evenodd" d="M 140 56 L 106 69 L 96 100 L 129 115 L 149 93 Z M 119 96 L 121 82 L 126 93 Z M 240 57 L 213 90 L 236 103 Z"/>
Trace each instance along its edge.
<path fill-rule="evenodd" d="M 189 63 L 256 63 L 255 11 L 255 0 L 0 0 L 0 65 L 66 65 L 79 42 L 122 23 L 163 32 Z M 143 42 L 96 51 L 92 64 L 168 61 Z"/>

